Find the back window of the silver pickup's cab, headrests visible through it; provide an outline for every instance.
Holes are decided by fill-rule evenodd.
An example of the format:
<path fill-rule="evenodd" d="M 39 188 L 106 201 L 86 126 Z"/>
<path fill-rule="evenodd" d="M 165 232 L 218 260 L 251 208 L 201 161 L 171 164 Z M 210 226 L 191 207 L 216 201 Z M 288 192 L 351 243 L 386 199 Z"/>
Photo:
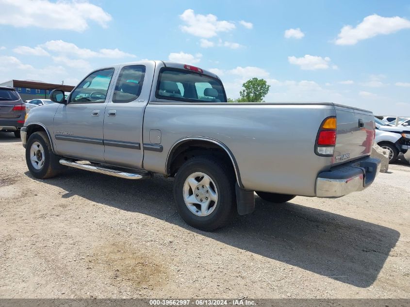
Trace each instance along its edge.
<path fill-rule="evenodd" d="M 226 102 L 222 82 L 189 70 L 163 68 L 156 97 L 187 102 Z"/>

